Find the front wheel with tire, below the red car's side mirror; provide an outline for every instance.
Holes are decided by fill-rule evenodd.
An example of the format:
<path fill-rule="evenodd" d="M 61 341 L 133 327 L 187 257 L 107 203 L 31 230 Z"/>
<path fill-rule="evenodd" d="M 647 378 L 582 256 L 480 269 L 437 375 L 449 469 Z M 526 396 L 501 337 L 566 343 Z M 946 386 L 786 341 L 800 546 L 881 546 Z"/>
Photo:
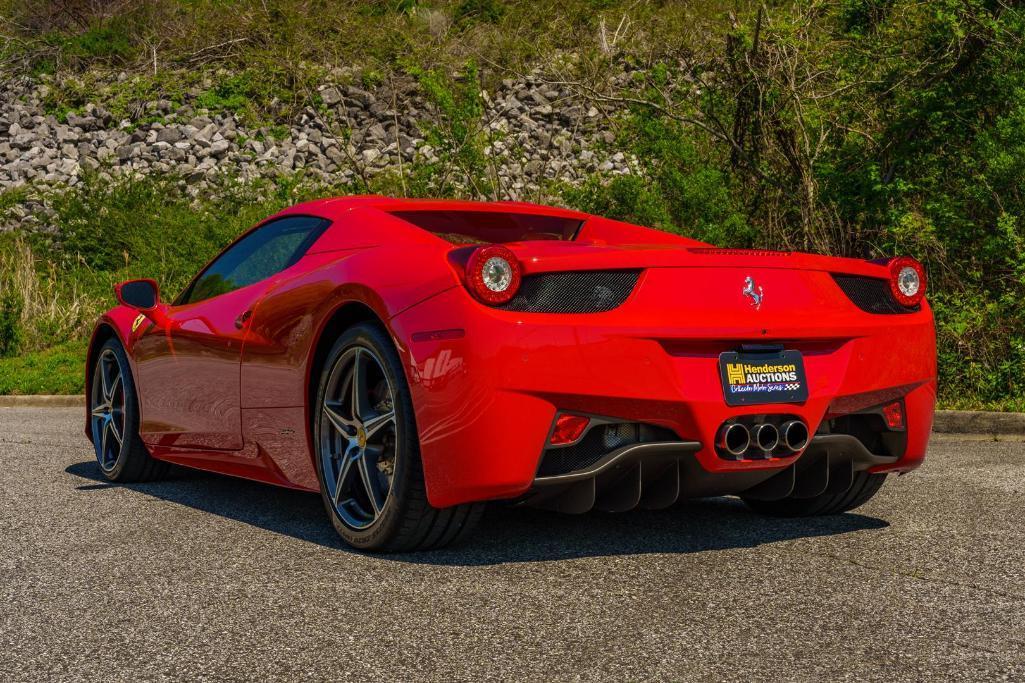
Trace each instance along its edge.
<path fill-rule="evenodd" d="M 137 396 L 124 348 L 108 339 L 92 367 L 89 428 L 99 471 L 110 481 L 153 481 L 171 469 L 151 456 L 138 436 Z"/>

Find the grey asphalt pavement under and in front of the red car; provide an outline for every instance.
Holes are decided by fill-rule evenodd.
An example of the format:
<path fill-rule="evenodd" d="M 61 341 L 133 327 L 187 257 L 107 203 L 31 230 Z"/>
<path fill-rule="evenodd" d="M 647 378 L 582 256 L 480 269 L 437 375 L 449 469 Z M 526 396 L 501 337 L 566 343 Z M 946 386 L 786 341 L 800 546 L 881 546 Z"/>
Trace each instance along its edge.
<path fill-rule="evenodd" d="M 318 496 L 106 483 L 83 411 L 0 408 L 0 680 L 1025 680 L 1025 441 L 934 440 L 863 508 L 489 510 L 371 556 Z"/>

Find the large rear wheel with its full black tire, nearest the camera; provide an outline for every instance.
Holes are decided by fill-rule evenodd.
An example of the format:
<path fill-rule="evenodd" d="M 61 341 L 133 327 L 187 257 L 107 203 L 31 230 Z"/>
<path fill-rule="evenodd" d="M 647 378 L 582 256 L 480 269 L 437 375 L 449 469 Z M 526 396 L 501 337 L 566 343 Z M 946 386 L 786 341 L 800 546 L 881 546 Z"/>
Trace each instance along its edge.
<path fill-rule="evenodd" d="M 402 552 L 440 548 L 469 533 L 482 504 L 438 509 L 427 501 L 412 397 L 380 327 L 362 323 L 338 337 L 314 407 L 321 496 L 345 543 Z"/>

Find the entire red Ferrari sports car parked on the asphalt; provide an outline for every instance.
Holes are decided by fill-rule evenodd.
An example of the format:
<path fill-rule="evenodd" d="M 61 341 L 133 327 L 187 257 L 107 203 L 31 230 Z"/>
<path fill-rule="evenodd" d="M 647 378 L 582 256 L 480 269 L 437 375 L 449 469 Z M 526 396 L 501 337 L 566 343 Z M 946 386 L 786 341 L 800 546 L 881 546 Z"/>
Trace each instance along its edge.
<path fill-rule="evenodd" d="M 119 284 L 89 346 L 86 434 L 114 481 L 175 464 L 319 491 L 368 550 L 450 543 L 488 500 L 834 514 L 925 456 L 925 290 L 906 257 L 326 199 L 244 234 L 171 303 Z"/>

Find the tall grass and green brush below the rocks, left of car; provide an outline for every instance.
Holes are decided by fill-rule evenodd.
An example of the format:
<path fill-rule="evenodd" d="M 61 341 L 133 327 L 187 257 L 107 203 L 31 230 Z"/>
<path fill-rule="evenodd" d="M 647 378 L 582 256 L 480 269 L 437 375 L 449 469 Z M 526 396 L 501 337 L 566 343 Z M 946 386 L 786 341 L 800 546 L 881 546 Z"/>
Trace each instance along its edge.
<path fill-rule="evenodd" d="M 215 200 L 197 200 L 176 177 L 86 176 L 46 198 L 58 241 L 45 232 L 0 234 L 0 356 L 83 339 L 122 280 L 155 277 L 171 298 L 259 219 L 345 192 L 294 176 L 225 183 Z"/>

